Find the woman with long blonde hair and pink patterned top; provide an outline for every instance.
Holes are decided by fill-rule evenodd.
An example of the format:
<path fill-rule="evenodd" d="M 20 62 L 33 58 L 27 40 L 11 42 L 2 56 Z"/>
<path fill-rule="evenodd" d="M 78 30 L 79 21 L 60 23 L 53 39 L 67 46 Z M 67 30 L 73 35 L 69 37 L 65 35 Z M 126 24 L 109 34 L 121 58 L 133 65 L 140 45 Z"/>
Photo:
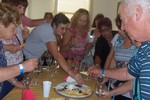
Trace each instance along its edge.
<path fill-rule="evenodd" d="M 87 33 L 89 29 L 89 12 L 79 9 L 71 18 L 71 25 L 64 34 L 60 50 L 70 65 L 72 61 L 80 63 L 84 58 L 87 44 Z"/>

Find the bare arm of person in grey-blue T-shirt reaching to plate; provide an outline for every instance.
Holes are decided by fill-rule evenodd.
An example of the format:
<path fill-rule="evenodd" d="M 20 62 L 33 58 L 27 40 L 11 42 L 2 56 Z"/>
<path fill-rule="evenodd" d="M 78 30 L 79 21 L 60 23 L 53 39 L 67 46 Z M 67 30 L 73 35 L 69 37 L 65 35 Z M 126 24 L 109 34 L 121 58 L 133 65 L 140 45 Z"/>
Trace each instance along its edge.
<path fill-rule="evenodd" d="M 79 84 L 83 84 L 82 77 L 79 74 L 74 73 L 70 70 L 66 60 L 63 58 L 63 56 L 58 51 L 58 46 L 56 42 L 47 42 L 46 46 L 49 50 L 49 52 L 52 54 L 54 59 L 58 62 L 58 64 L 61 66 L 61 68 L 67 72 L 71 77 L 73 77 Z"/>

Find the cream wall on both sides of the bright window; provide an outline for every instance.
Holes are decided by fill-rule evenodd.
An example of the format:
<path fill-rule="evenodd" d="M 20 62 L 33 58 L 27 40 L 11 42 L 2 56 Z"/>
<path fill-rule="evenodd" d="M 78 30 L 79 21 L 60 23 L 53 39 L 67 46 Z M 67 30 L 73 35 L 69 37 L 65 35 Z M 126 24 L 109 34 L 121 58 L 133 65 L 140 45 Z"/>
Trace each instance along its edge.
<path fill-rule="evenodd" d="M 104 16 L 111 19 L 113 29 L 117 29 L 115 25 L 115 17 L 117 13 L 117 3 L 119 1 L 120 0 L 92 0 L 91 21 L 93 21 L 96 14 L 103 13 Z M 26 15 L 33 19 L 43 18 L 45 12 L 53 11 L 54 5 L 52 5 L 52 2 L 53 0 L 29 0 L 29 6 Z"/>

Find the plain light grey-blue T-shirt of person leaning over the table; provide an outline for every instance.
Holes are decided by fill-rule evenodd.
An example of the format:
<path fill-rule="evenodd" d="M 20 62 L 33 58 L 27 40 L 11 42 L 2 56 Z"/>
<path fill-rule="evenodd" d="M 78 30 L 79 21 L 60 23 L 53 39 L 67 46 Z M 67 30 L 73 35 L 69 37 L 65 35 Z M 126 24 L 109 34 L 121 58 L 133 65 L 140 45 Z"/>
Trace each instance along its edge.
<path fill-rule="evenodd" d="M 42 54 L 47 50 L 47 42 L 56 42 L 56 37 L 52 29 L 51 24 L 43 23 L 30 33 L 26 40 L 26 46 L 24 48 L 24 54 L 26 58 L 38 57 L 40 58 Z"/>

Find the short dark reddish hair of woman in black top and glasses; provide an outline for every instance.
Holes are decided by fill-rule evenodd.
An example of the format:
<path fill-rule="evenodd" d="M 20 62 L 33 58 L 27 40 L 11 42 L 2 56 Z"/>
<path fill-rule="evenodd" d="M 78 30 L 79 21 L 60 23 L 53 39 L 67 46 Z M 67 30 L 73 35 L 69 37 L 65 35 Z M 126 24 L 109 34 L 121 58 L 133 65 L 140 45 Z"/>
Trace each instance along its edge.
<path fill-rule="evenodd" d="M 108 17 L 104 17 L 98 22 L 99 31 L 104 31 L 106 28 L 112 29 L 112 22 Z"/>

